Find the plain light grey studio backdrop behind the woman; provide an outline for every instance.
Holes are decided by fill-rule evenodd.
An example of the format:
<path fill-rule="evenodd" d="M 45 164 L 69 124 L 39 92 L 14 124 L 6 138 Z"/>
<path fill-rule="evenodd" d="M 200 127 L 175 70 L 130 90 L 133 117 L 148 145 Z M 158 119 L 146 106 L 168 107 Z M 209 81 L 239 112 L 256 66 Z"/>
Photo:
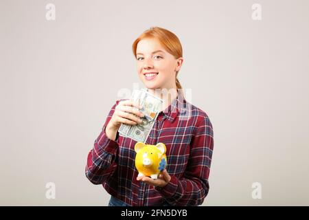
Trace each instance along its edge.
<path fill-rule="evenodd" d="M 179 79 L 214 126 L 203 205 L 309 205 L 308 1 L 1 0 L 0 10 L 0 205 L 107 205 L 84 175 L 87 154 L 118 91 L 139 83 L 131 45 L 151 26 L 179 36 Z"/>

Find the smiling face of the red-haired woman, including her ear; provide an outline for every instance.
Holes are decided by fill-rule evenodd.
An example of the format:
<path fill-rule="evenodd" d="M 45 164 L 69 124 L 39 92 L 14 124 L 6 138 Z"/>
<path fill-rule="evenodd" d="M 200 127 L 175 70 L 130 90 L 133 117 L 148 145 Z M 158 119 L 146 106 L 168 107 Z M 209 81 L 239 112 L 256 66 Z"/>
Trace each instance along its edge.
<path fill-rule="evenodd" d="M 183 58 L 174 58 L 156 39 L 143 39 L 137 44 L 137 72 L 148 89 L 176 89 L 176 71 Z"/>

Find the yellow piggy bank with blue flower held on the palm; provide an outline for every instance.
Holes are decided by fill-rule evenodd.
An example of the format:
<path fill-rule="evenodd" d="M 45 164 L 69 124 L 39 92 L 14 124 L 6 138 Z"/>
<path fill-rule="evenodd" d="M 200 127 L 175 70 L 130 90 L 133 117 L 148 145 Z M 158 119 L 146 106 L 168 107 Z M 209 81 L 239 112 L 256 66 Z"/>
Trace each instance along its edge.
<path fill-rule="evenodd" d="M 138 176 L 147 176 L 157 179 L 159 173 L 166 167 L 166 146 L 163 143 L 157 145 L 144 144 L 137 142 L 135 144 L 135 166 L 139 171 Z"/>

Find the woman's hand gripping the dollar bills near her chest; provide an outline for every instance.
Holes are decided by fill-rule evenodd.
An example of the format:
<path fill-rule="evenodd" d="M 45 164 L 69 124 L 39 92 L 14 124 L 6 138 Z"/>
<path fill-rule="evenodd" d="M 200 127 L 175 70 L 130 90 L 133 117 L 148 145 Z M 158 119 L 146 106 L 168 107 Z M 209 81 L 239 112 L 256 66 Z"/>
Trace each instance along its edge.
<path fill-rule="evenodd" d="M 131 100 L 120 101 L 115 107 L 113 116 L 106 126 L 106 135 L 110 139 L 115 140 L 117 131 L 122 123 L 129 125 L 141 123 L 139 117 L 144 117 L 144 114 L 138 109 L 141 109 L 139 104 Z"/>

